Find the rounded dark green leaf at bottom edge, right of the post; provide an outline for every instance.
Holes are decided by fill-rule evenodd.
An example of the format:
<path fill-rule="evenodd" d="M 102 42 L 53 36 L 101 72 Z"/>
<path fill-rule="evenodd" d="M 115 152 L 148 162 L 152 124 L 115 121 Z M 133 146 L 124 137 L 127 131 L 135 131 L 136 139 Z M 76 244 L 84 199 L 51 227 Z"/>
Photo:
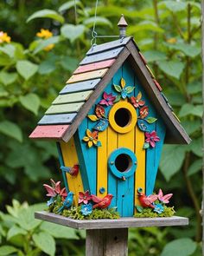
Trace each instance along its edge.
<path fill-rule="evenodd" d="M 195 249 L 196 243 L 193 240 L 182 238 L 173 240 L 164 246 L 161 256 L 178 255 L 178 252 L 179 256 L 189 256 L 194 253 Z"/>

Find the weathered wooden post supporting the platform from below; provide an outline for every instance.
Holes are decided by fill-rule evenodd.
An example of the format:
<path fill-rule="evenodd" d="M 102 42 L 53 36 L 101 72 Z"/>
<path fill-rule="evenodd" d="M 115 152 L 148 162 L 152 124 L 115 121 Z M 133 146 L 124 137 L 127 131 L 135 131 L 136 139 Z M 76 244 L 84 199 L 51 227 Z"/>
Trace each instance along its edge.
<path fill-rule="evenodd" d="M 127 256 L 128 228 L 87 229 L 86 256 Z"/>

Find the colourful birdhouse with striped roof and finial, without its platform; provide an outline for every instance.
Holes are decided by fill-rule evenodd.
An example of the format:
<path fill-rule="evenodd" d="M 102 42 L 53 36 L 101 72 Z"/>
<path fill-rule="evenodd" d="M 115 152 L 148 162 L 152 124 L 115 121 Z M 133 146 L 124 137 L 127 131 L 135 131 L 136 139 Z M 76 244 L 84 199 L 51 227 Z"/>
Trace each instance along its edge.
<path fill-rule="evenodd" d="M 132 37 L 92 45 L 29 136 L 57 141 L 73 204 L 79 193 L 112 194 L 109 207 L 133 216 L 138 191 L 154 191 L 163 143 L 190 138 Z"/>

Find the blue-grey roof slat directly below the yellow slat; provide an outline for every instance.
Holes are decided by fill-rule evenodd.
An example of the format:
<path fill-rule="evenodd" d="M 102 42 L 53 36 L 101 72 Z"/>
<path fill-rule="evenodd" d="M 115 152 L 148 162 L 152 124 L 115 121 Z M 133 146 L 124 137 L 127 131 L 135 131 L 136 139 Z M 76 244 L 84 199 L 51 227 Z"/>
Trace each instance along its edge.
<path fill-rule="evenodd" d="M 100 78 L 92 79 L 84 82 L 75 82 L 67 84 L 60 92 L 60 95 L 70 94 L 73 92 L 86 91 L 90 89 L 94 89 L 96 85 L 100 82 Z"/>

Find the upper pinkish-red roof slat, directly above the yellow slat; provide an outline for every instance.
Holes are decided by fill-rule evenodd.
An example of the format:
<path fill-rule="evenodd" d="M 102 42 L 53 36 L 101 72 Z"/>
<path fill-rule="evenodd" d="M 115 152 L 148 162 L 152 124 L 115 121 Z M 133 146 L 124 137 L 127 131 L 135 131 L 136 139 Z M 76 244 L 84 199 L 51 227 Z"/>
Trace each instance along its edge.
<path fill-rule="evenodd" d="M 95 62 L 87 65 L 80 66 L 78 69 L 76 69 L 73 74 L 80 74 L 92 70 L 97 70 L 97 69 L 105 69 L 109 68 L 112 66 L 112 64 L 115 62 L 115 59 L 103 61 L 103 62 Z"/>

